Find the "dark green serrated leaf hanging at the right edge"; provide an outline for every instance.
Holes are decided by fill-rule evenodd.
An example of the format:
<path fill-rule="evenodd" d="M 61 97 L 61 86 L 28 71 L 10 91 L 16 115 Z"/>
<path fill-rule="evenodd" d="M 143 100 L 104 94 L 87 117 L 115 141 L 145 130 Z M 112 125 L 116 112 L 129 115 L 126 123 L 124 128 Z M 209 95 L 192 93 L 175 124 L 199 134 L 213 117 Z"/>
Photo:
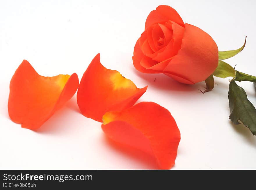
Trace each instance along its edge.
<path fill-rule="evenodd" d="M 228 100 L 230 120 L 236 125 L 243 123 L 256 135 L 256 109 L 247 99 L 246 92 L 235 81 L 229 84 Z"/>

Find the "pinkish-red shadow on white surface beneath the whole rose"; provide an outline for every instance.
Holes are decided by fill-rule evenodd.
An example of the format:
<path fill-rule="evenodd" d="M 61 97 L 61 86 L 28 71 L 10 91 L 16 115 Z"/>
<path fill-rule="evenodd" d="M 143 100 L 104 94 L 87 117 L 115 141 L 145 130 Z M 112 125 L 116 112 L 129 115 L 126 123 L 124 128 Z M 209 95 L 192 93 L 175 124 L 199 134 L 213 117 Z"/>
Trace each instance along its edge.
<path fill-rule="evenodd" d="M 203 89 L 205 87 L 204 82 L 196 83 L 193 85 L 182 84 L 175 81 L 171 77 L 168 77 L 162 73 L 159 74 L 146 74 L 137 71 L 135 68 L 134 72 L 136 75 L 147 81 L 149 86 L 160 90 L 170 90 L 170 91 L 198 91 L 198 89 Z M 200 93 L 200 91 L 198 91 Z"/>

